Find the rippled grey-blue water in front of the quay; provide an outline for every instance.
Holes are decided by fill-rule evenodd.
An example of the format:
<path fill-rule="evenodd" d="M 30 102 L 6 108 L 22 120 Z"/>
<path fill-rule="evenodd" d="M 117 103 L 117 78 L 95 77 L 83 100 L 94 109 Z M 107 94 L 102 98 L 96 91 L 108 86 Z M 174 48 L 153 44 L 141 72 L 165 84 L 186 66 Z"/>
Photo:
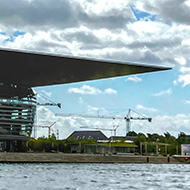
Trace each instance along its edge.
<path fill-rule="evenodd" d="M 1 190 L 190 189 L 190 165 L 0 164 Z"/>

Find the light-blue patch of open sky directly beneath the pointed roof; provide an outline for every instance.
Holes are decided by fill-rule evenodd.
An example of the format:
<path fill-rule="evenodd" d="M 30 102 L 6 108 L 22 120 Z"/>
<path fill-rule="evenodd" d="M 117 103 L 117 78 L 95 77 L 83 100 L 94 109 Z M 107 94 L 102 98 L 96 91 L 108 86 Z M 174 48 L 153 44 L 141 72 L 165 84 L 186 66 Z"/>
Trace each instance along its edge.
<path fill-rule="evenodd" d="M 84 112 L 88 114 L 87 105 L 97 107 L 99 109 L 105 108 L 106 110 L 122 109 L 127 113 L 129 108 L 137 110 L 137 105 L 139 104 L 145 107 L 158 109 L 158 113 L 160 115 L 173 115 L 179 113 L 179 111 L 180 113 L 186 113 L 188 111 L 188 107 L 184 107 L 180 101 L 187 99 L 185 95 L 187 89 L 183 89 L 181 86 L 173 86 L 173 81 L 176 75 L 175 72 L 176 71 L 174 69 L 172 71 L 141 74 L 138 75 L 138 77 L 142 79 L 141 82 L 127 81 L 129 77 L 118 77 L 113 80 L 104 79 L 91 82 L 39 87 L 35 88 L 35 90 L 43 95 L 46 95 L 44 91 L 52 93 L 49 98 L 54 102 L 62 103 L 62 110 L 51 108 L 56 113 Z M 89 95 L 69 93 L 70 88 L 81 88 L 84 85 L 100 89 L 101 91 L 112 88 L 117 91 L 117 94 L 108 95 L 106 93 L 100 93 Z M 175 96 L 168 93 L 155 96 L 155 94 L 167 91 L 168 89 L 175 91 Z M 46 95 L 46 97 L 48 96 Z M 81 98 L 84 103 L 80 103 Z M 40 101 L 42 100 L 40 99 Z M 170 104 L 170 106 L 166 107 L 166 102 L 167 104 Z M 175 104 L 173 104 L 173 102 L 175 102 Z M 180 110 L 176 109 L 176 106 L 180 108 Z M 155 113 L 146 113 L 146 115 L 153 116 Z"/>

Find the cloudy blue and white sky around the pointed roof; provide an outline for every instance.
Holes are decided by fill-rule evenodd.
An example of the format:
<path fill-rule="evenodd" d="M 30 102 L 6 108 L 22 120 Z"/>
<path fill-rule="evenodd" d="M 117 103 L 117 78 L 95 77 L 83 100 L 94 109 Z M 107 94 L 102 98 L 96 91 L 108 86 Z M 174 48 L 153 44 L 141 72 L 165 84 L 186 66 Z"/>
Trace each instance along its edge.
<path fill-rule="evenodd" d="M 34 88 L 37 125 L 66 138 L 80 127 L 113 128 L 124 120 L 62 117 L 57 113 L 125 116 L 133 109 L 147 121 L 136 132 L 190 134 L 190 0 L 0 0 L 0 47 L 171 67 L 172 70 Z M 41 96 L 40 96 L 41 95 Z M 46 97 L 47 99 L 44 99 Z M 84 130 L 84 129 L 83 129 Z M 108 137 L 113 133 L 103 131 Z M 47 136 L 39 128 L 37 136 Z"/>

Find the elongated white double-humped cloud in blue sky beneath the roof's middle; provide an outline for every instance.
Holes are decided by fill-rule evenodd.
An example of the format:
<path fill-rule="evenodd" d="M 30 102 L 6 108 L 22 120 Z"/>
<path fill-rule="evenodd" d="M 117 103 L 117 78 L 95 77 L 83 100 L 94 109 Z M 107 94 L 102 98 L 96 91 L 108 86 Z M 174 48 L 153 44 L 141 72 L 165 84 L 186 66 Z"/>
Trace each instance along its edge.
<path fill-rule="evenodd" d="M 75 94 L 83 94 L 83 95 L 84 94 L 98 95 L 98 94 L 103 94 L 103 93 L 105 93 L 105 94 L 117 94 L 117 91 L 114 89 L 111 89 L 111 88 L 107 88 L 104 91 L 102 91 L 98 88 L 95 88 L 95 87 L 92 87 L 89 85 L 83 85 L 80 88 L 69 88 L 68 92 L 69 93 L 75 93 Z"/>

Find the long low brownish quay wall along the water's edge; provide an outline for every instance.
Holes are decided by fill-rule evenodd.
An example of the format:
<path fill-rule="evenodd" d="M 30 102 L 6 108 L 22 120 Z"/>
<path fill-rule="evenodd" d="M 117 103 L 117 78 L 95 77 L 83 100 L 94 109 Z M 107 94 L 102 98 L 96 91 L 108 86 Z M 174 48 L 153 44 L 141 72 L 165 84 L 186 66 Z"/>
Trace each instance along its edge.
<path fill-rule="evenodd" d="M 69 153 L 0 153 L 0 163 L 147 163 L 190 164 L 182 156 L 98 155 Z"/>

